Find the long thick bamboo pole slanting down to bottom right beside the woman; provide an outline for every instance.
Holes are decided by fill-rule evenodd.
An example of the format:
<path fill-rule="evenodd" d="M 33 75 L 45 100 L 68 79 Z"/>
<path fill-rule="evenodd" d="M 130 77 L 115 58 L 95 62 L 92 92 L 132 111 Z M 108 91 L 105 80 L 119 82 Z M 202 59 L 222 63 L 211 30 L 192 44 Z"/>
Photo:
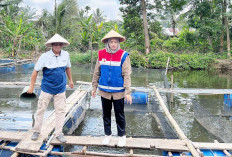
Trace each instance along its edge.
<path fill-rule="evenodd" d="M 183 131 L 180 129 L 179 125 L 176 123 L 176 121 L 174 120 L 174 118 L 172 117 L 172 115 L 169 113 L 166 105 L 164 104 L 163 99 L 161 98 L 158 90 L 156 89 L 155 85 L 152 87 L 153 90 L 156 93 L 156 96 L 160 102 L 161 107 L 164 110 L 164 113 L 166 114 L 168 120 L 171 122 L 172 126 L 175 128 L 176 132 L 178 133 L 178 135 L 180 136 L 180 138 L 182 140 L 184 140 L 184 142 L 186 143 L 187 147 L 189 148 L 190 152 L 192 153 L 192 155 L 194 157 L 200 157 L 199 153 L 197 152 L 197 150 L 194 148 L 192 142 L 185 136 L 185 134 L 183 133 Z"/>

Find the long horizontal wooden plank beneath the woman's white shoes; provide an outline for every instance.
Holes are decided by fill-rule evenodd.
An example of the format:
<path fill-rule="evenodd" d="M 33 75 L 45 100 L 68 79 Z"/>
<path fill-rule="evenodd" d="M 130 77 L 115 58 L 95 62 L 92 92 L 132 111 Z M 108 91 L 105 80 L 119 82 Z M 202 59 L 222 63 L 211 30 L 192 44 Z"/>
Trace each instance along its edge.
<path fill-rule="evenodd" d="M 65 145 L 82 145 L 82 146 L 104 146 L 102 140 L 104 137 L 92 136 L 65 136 L 67 142 Z M 118 138 L 112 137 L 108 147 L 117 147 Z M 53 139 L 51 144 L 61 144 L 57 139 Z M 182 140 L 168 139 L 146 139 L 146 138 L 127 138 L 125 148 L 140 148 L 140 149 L 161 149 L 170 151 L 188 151 L 185 142 Z"/>

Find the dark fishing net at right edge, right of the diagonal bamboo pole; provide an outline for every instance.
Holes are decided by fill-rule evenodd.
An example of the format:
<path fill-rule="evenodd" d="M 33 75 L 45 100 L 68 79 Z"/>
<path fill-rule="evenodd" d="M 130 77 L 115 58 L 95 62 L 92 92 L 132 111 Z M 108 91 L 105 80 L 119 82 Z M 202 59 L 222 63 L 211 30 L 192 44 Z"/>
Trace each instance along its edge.
<path fill-rule="evenodd" d="M 223 115 L 215 115 L 200 105 L 197 100 L 192 100 L 195 119 L 210 133 L 226 143 L 232 142 L 232 122 Z"/>

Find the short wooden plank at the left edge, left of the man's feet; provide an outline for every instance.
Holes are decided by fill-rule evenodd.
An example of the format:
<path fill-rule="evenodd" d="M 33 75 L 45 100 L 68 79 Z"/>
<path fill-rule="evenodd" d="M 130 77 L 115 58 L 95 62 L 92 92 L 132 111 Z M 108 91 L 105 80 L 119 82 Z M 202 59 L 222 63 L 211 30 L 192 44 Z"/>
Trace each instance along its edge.
<path fill-rule="evenodd" d="M 0 131 L 0 139 L 4 141 L 19 142 L 25 136 L 26 132 Z"/>

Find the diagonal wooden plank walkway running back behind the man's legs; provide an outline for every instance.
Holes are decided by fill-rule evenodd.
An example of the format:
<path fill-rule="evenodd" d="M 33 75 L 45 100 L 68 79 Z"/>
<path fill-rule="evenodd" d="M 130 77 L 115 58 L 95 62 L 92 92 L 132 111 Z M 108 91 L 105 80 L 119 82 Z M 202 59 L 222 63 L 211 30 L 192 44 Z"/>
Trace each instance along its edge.
<path fill-rule="evenodd" d="M 66 100 L 66 113 L 80 100 L 80 98 L 85 94 L 85 91 L 74 91 L 70 97 Z M 32 141 L 31 136 L 33 134 L 32 131 L 29 131 L 25 138 L 15 147 L 16 151 L 23 151 L 23 152 L 38 152 L 43 141 L 48 137 L 48 135 L 53 131 L 55 128 L 55 112 L 53 112 L 47 120 L 43 123 L 41 134 L 37 141 Z"/>

